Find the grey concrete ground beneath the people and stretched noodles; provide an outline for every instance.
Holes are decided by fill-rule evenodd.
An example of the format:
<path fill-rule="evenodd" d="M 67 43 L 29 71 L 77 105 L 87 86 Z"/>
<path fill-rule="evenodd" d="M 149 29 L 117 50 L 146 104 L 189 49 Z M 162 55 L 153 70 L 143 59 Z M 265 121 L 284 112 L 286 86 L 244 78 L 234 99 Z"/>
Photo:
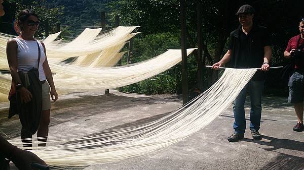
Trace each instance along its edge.
<path fill-rule="evenodd" d="M 61 96 L 51 110 L 50 135 L 135 126 L 159 119 L 181 106 L 181 99 L 174 95 L 110 92 L 110 95 Z M 8 111 L 0 110 L 0 129 L 12 138 L 19 138 L 18 118 L 8 120 Z M 247 102 L 247 127 L 248 112 Z M 72 169 L 304 169 L 304 132 L 292 131 L 296 118 L 287 98 L 263 98 L 262 140 L 253 140 L 247 129 L 245 139 L 228 142 L 233 122 L 230 107 L 206 128 L 157 153 Z"/>

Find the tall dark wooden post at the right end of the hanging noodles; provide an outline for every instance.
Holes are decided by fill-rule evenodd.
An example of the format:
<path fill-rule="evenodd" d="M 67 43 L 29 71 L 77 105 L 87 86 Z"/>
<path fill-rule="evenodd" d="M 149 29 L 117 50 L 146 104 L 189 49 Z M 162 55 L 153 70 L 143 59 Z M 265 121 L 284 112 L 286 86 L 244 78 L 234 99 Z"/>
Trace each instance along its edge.
<path fill-rule="evenodd" d="M 187 81 L 187 48 L 186 48 L 186 2 L 180 0 L 180 27 L 181 27 L 181 72 L 182 72 L 182 103 L 188 101 L 188 81 Z"/>

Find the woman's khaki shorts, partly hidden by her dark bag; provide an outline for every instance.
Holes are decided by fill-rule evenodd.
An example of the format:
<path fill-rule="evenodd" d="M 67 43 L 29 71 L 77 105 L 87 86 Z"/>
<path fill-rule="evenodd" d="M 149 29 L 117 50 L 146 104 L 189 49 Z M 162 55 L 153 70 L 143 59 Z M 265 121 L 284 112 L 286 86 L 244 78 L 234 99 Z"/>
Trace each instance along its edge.
<path fill-rule="evenodd" d="M 25 76 L 25 87 L 29 86 L 29 79 L 27 73 L 24 73 Z M 50 86 L 49 83 L 45 80 L 42 84 L 42 110 L 51 109 L 51 96 L 50 96 Z"/>

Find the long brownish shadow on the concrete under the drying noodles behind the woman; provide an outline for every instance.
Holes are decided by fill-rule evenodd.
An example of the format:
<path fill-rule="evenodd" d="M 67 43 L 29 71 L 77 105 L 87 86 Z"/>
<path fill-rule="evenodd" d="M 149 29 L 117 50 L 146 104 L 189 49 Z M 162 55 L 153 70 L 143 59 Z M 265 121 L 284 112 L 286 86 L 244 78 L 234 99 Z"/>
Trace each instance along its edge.
<path fill-rule="evenodd" d="M 85 118 L 95 114 L 103 114 L 113 110 L 126 109 L 140 104 L 163 104 L 166 102 L 166 100 L 161 98 L 158 99 L 156 97 L 134 98 L 115 94 L 98 96 L 84 95 L 77 99 L 65 99 L 54 103 L 52 106 L 51 117 L 55 117 L 55 119 L 51 120 L 50 127 L 70 122 L 73 119 L 83 118 L 85 120 Z M 73 108 L 79 108 L 77 110 L 77 114 L 75 114 Z M 8 110 L 0 111 L 0 129 L 11 138 L 19 137 L 21 125 L 18 116 L 16 115 L 11 119 L 8 119 L 7 117 Z M 140 120 L 138 123 L 140 124 Z"/>

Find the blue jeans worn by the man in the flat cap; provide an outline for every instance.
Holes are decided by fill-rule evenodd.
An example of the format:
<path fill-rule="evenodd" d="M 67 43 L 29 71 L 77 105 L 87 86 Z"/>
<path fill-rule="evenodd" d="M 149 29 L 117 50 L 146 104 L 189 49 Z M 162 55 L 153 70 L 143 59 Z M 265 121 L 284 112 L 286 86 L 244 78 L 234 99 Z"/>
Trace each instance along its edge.
<path fill-rule="evenodd" d="M 245 100 L 247 91 L 250 93 L 250 129 L 259 130 L 261 122 L 261 98 L 265 81 L 249 81 L 234 101 L 233 114 L 235 133 L 244 134 L 246 129 Z"/>

